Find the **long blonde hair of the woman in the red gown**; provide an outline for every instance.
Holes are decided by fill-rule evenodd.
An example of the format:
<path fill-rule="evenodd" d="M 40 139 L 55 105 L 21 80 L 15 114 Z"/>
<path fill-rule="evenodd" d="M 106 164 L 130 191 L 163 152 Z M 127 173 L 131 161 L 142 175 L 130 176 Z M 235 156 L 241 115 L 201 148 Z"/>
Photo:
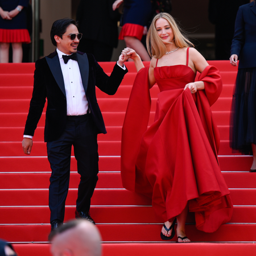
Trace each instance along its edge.
<path fill-rule="evenodd" d="M 156 59 L 160 59 L 167 52 L 167 48 L 163 43 L 163 40 L 158 35 L 158 32 L 155 28 L 155 22 L 159 18 L 166 19 L 170 24 L 172 31 L 174 33 L 174 41 L 177 47 L 195 47 L 181 32 L 181 28 L 175 22 L 175 19 L 168 13 L 159 13 L 156 14 L 154 19 L 151 22 L 150 28 L 148 28 L 146 44 L 147 51 L 151 57 L 155 57 Z M 171 42 L 170 42 L 171 44 Z"/>

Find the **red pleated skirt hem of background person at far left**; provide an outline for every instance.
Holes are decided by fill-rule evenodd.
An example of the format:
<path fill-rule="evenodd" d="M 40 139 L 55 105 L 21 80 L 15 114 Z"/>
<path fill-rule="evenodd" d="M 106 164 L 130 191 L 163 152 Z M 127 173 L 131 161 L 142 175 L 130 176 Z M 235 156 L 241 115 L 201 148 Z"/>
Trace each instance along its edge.
<path fill-rule="evenodd" d="M 30 34 L 27 29 L 5 30 L 0 28 L 0 43 L 26 43 L 29 44 Z"/>

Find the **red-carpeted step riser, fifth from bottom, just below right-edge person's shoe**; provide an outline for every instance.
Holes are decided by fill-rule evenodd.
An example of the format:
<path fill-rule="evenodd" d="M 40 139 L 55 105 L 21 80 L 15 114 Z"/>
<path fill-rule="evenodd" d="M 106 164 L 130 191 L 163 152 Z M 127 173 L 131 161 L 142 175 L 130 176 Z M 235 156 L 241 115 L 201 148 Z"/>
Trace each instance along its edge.
<path fill-rule="evenodd" d="M 1 173 L 1 189 L 36 189 L 48 188 L 51 172 L 30 172 L 30 173 Z M 250 172 L 223 172 L 226 184 L 229 188 L 256 188 L 256 175 Z M 98 174 L 96 188 L 123 188 L 120 172 L 100 172 Z M 10 182 L 11 180 L 11 182 Z M 77 188 L 80 175 L 72 172 L 70 175 L 69 188 Z"/>

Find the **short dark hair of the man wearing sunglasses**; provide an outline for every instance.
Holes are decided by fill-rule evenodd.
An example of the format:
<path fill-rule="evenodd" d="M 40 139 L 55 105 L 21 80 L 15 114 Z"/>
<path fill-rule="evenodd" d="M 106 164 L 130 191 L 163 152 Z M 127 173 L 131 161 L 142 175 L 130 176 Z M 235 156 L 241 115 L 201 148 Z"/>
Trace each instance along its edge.
<path fill-rule="evenodd" d="M 60 38 L 62 39 L 62 35 L 65 34 L 65 32 L 67 31 L 67 27 L 71 24 L 74 24 L 77 27 L 77 23 L 73 19 L 58 19 L 55 22 L 53 22 L 51 29 L 51 40 L 53 46 L 57 46 L 54 36 L 60 36 Z"/>

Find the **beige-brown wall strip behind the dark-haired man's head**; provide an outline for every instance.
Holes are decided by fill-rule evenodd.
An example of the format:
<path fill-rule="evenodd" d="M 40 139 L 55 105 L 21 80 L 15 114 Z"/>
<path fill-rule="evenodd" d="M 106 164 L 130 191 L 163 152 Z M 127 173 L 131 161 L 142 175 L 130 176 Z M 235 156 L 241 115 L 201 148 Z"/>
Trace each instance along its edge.
<path fill-rule="evenodd" d="M 52 23 L 57 19 L 71 18 L 72 0 L 41 0 L 40 1 L 40 19 L 42 20 L 42 32 L 40 39 L 44 40 L 44 55 L 55 50 L 51 43 L 50 31 Z"/>

